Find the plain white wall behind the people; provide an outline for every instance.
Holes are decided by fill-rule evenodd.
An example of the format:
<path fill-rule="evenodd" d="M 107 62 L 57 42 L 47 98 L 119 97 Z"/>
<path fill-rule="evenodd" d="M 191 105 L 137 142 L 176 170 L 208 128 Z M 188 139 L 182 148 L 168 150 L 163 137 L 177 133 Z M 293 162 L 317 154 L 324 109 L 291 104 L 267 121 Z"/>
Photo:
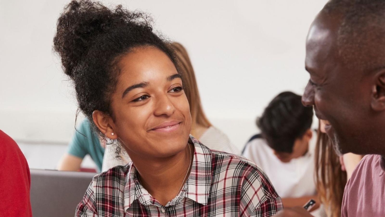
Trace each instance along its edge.
<path fill-rule="evenodd" d="M 63 146 L 74 130 L 73 89 L 52 53 L 56 20 L 68 2 L 0 0 L 0 129 L 23 147 Z M 205 112 L 241 149 L 271 98 L 303 92 L 305 37 L 326 0 L 104 2 L 152 14 L 157 30 L 186 46 Z M 42 156 L 53 154 L 42 147 Z M 63 147 L 56 150 L 60 156 Z M 43 165 L 39 153 L 31 167 Z"/>

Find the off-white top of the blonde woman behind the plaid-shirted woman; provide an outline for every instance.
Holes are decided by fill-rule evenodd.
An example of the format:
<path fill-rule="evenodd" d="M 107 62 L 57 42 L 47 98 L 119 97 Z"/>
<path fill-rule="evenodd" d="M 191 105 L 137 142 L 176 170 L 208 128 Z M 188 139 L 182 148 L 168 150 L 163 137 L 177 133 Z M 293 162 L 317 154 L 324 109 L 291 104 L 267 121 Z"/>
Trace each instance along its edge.
<path fill-rule="evenodd" d="M 233 144 L 231 144 L 226 134 L 213 126 L 204 131 L 199 141 L 209 149 L 240 155 L 240 151 Z M 115 151 L 113 149 L 114 146 L 105 146 L 102 172 L 107 171 L 109 168 L 114 166 L 126 165 L 131 161 L 126 151 L 122 151 L 124 153 L 122 154 L 122 159 L 116 159 Z"/>

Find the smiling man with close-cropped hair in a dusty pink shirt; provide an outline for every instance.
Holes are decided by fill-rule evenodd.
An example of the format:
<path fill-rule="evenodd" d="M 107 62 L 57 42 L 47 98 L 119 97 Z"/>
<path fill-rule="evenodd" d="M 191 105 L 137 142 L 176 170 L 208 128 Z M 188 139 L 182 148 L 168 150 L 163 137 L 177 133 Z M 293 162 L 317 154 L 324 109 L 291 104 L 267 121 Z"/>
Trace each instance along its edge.
<path fill-rule="evenodd" d="M 326 120 L 338 155 L 366 155 L 347 181 L 341 217 L 385 216 L 385 1 L 331 0 L 306 39 L 302 97 Z M 277 217 L 311 216 L 285 209 Z"/>

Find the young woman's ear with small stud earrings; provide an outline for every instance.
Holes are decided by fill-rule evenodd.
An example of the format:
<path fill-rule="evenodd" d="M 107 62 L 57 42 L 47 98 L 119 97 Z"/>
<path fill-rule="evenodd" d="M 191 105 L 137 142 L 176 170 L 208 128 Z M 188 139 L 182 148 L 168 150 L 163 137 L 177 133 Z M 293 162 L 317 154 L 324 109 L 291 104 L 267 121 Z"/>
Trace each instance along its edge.
<path fill-rule="evenodd" d="M 114 121 L 111 116 L 104 114 L 99 110 L 92 112 L 92 119 L 94 120 L 95 125 L 99 128 L 100 132 L 104 134 L 109 139 L 117 139 L 117 132 L 114 131 Z"/>

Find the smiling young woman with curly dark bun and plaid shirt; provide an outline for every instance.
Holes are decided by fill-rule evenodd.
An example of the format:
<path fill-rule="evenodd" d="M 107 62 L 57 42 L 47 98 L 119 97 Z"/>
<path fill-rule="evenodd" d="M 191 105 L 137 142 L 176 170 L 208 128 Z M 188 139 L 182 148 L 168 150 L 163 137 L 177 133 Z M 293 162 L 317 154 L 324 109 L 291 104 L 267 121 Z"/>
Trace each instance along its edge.
<path fill-rule="evenodd" d="M 281 198 L 255 164 L 193 136 L 176 57 L 140 12 L 72 1 L 54 49 L 80 110 L 132 163 L 94 177 L 76 216 L 270 216 Z"/>

